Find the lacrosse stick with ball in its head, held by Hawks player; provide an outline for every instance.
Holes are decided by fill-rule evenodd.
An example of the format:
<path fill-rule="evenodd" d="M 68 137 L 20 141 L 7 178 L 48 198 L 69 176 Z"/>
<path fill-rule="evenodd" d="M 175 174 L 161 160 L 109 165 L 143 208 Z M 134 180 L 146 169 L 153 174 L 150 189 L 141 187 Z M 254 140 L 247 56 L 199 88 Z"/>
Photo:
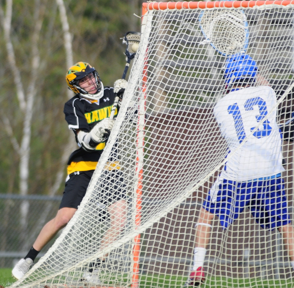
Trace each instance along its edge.
<path fill-rule="evenodd" d="M 121 79 L 126 79 L 128 67 L 130 66 L 131 60 L 136 55 L 136 52 L 139 48 L 140 40 L 141 40 L 141 33 L 139 33 L 139 32 L 127 32 L 125 34 L 125 36 L 123 37 L 123 44 L 127 44 L 127 48 L 126 48 L 126 52 L 125 52 L 125 54 L 127 56 L 127 63 L 125 66 L 125 70 L 123 71 L 123 76 L 121 77 Z M 119 97 L 116 96 L 114 99 L 114 102 L 113 102 L 113 107 L 111 109 L 110 116 L 109 116 L 110 119 L 113 119 L 113 117 L 114 117 L 114 113 L 115 113 L 117 105 L 118 105 L 118 100 L 119 100 Z M 106 133 L 104 133 L 104 136 L 108 138 L 108 136 L 109 136 L 108 131 L 106 131 Z"/>

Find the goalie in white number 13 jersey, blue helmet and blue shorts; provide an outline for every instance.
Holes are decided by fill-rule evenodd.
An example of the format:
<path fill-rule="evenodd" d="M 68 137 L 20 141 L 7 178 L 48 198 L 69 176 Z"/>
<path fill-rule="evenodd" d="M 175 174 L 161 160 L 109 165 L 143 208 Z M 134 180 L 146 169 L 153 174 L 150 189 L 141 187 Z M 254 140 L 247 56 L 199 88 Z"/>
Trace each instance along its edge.
<path fill-rule="evenodd" d="M 249 55 L 235 55 L 225 63 L 227 94 L 214 107 L 214 115 L 228 144 L 228 160 L 203 202 L 195 225 L 193 268 L 186 286 L 205 281 L 203 263 L 215 215 L 227 229 L 245 207 L 262 228 L 277 228 L 283 234 L 294 266 L 293 226 L 281 178 L 284 168 L 276 123 L 277 100 L 269 86 L 255 86 L 257 77 L 256 62 Z M 240 143 L 243 145 L 238 148 Z"/>

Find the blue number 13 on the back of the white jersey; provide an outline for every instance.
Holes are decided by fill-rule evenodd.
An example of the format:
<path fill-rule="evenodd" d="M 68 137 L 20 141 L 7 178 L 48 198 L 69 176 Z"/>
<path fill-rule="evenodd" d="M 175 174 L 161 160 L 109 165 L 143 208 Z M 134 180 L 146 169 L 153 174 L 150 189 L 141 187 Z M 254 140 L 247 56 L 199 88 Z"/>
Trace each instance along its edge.
<path fill-rule="evenodd" d="M 248 99 L 245 104 L 244 108 L 246 111 L 253 110 L 253 106 L 258 105 L 259 108 L 259 115 L 255 116 L 257 123 L 262 122 L 265 116 L 268 114 L 266 103 L 265 101 L 260 97 L 255 97 Z M 235 124 L 236 133 L 239 139 L 239 142 L 241 143 L 246 138 L 246 133 L 243 125 L 243 119 L 242 115 L 239 109 L 239 106 L 237 103 L 234 103 L 233 105 L 228 106 L 228 113 L 232 114 Z M 251 131 L 253 131 L 256 127 L 250 128 Z M 258 128 L 253 133 L 253 136 L 256 138 L 262 138 L 265 136 L 269 136 L 272 131 L 272 127 L 270 126 L 270 122 L 268 119 L 263 121 L 263 128 Z"/>

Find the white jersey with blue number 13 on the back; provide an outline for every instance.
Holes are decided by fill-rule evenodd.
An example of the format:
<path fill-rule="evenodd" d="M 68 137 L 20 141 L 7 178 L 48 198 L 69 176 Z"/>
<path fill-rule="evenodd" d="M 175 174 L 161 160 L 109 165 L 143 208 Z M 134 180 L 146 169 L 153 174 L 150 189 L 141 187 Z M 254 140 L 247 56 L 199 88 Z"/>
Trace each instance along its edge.
<path fill-rule="evenodd" d="M 268 86 L 233 91 L 218 101 L 214 115 L 230 149 L 223 178 L 246 181 L 284 171 L 276 103 L 275 91 Z M 237 149 L 256 127 L 258 130 Z"/>

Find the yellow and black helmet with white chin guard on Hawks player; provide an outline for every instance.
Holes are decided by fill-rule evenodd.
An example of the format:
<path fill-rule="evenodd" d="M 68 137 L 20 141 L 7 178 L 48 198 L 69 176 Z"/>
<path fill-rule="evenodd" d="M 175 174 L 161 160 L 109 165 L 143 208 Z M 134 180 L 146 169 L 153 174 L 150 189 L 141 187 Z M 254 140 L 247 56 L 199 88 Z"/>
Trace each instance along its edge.
<path fill-rule="evenodd" d="M 87 87 L 85 88 L 84 85 L 83 88 L 81 87 L 81 80 L 86 76 L 88 76 L 89 80 L 91 79 L 89 81 L 89 86 L 93 86 L 93 89 L 90 89 L 91 91 L 87 91 L 89 89 L 86 89 Z M 82 94 L 85 98 L 97 100 L 104 94 L 103 83 L 98 72 L 86 62 L 78 62 L 71 66 L 65 78 L 69 89 L 76 94 Z"/>

